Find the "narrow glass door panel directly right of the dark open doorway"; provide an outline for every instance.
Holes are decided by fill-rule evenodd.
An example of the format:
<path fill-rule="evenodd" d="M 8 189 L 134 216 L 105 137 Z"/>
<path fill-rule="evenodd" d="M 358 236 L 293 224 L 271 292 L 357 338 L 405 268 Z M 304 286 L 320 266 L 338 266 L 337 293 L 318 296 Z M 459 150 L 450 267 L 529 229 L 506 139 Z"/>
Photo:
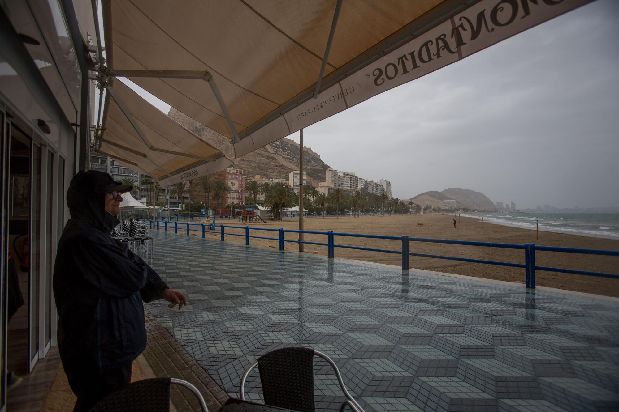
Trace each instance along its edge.
<path fill-rule="evenodd" d="M 32 141 L 30 146 L 30 281 L 28 293 L 28 370 L 32 371 L 39 358 L 41 320 L 41 161 L 43 150 Z"/>

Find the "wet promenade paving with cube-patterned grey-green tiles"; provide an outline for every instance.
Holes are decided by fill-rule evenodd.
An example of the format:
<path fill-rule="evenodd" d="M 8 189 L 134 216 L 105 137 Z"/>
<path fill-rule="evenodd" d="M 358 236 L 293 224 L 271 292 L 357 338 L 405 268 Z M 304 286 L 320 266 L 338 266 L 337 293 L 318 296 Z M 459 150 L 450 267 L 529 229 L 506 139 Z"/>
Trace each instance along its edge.
<path fill-rule="evenodd" d="M 335 360 L 368 412 L 619 409 L 616 300 L 154 236 L 154 268 L 189 305 L 146 306 L 229 395 L 258 356 L 302 345 Z M 335 409 L 326 370 L 316 397 Z"/>

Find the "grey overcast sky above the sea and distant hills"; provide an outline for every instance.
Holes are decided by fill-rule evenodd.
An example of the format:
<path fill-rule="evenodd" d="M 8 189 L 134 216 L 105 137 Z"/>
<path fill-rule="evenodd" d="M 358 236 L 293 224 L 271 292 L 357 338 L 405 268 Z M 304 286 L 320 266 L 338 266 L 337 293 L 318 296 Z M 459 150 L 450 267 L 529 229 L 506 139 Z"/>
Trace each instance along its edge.
<path fill-rule="evenodd" d="M 465 187 L 518 208 L 619 207 L 617 39 L 619 1 L 594 1 L 309 126 L 304 144 L 402 199 Z"/>

